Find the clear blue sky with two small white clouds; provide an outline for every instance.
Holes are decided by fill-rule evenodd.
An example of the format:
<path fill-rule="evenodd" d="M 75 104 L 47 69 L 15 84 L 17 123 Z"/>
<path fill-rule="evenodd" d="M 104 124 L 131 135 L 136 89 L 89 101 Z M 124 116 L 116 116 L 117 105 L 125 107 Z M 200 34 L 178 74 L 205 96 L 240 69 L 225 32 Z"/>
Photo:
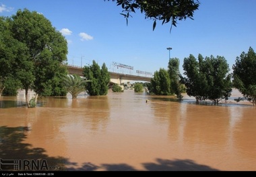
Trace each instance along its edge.
<path fill-rule="evenodd" d="M 180 21 L 170 33 L 170 24 L 145 20 L 139 11 L 131 14 L 129 24 L 116 3 L 104 0 L 0 0 L 0 15 L 11 16 L 18 9 L 38 11 L 63 32 L 68 41 L 68 63 L 73 65 L 113 62 L 152 72 L 167 69 L 170 57 L 224 56 L 230 69 L 241 52 L 256 50 L 255 0 L 199 0 L 194 20 Z M 116 71 L 117 69 L 115 69 Z M 125 71 L 126 72 L 126 71 Z"/>

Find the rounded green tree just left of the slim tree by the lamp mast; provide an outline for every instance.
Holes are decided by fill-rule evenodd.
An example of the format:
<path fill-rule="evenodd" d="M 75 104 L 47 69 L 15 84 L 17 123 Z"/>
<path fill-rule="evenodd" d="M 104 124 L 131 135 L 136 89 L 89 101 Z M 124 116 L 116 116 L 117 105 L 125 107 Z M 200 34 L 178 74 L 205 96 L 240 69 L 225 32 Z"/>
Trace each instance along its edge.
<path fill-rule="evenodd" d="M 159 96 L 169 96 L 170 93 L 170 77 L 166 69 L 160 68 L 154 72 L 154 77 L 150 81 L 149 92 Z"/>

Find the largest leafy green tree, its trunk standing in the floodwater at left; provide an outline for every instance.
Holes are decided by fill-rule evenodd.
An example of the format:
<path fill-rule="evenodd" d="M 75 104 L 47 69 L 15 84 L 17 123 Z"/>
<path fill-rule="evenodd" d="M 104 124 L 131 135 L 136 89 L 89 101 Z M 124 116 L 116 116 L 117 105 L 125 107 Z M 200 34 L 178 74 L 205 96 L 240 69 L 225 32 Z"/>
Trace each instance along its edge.
<path fill-rule="evenodd" d="M 18 10 L 11 18 L 2 18 L 3 38 L 0 64 L 3 71 L 20 80 L 26 92 L 36 92 L 36 98 L 50 96 L 58 85 L 56 77 L 66 73 L 67 41 L 42 14 L 28 9 Z M 63 67 L 63 69 L 60 69 Z M 63 72 L 60 74 L 59 72 Z M 36 100 L 35 98 L 35 100 Z"/>

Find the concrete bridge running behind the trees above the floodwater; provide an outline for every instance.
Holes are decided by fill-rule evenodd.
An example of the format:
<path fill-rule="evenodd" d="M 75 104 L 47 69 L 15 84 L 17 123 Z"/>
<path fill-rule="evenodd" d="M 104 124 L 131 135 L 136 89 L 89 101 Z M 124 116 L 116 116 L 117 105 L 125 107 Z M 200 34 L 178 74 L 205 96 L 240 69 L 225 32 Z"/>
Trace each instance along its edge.
<path fill-rule="evenodd" d="M 81 67 L 75 67 L 75 66 L 70 66 L 67 65 L 67 69 L 69 71 L 69 74 L 77 74 L 80 76 L 83 75 L 83 68 Z M 125 83 L 127 81 L 148 81 L 150 82 L 152 77 L 146 77 L 146 76 L 140 76 L 140 75 L 128 75 L 128 74 L 123 74 L 123 73 L 114 73 L 114 72 L 109 72 L 110 73 L 110 83 L 117 83 L 121 85 L 121 83 Z"/>

